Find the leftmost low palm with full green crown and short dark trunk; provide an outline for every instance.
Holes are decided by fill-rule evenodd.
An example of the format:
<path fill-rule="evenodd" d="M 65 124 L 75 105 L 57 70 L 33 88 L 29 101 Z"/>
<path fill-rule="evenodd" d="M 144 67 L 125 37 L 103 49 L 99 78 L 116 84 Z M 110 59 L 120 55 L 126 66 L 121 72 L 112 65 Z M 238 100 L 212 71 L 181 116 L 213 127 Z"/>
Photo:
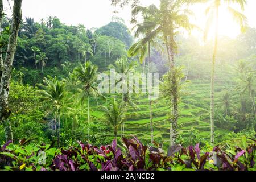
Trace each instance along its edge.
<path fill-rule="evenodd" d="M 47 111 L 48 114 L 53 114 L 54 127 L 57 135 L 58 145 L 60 144 L 60 115 L 64 105 L 65 98 L 65 84 L 57 78 L 47 79 L 44 78 L 43 84 L 38 84 L 42 89 L 38 92 L 41 94 L 42 99 L 50 104 Z"/>

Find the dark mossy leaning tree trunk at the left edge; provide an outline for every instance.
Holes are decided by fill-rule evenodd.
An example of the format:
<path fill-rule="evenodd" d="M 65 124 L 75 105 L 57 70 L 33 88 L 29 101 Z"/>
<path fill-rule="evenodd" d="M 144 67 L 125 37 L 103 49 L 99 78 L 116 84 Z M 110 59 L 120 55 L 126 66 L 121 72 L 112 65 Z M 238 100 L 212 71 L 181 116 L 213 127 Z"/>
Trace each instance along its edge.
<path fill-rule="evenodd" d="M 0 3 L 0 6 L 1 4 L 2 4 L 2 1 Z M 3 65 L 3 72 L 2 72 L 1 84 L 0 84 L 0 122 L 9 122 L 7 119 L 11 114 L 11 111 L 9 109 L 9 104 L 8 104 L 8 98 L 9 98 L 9 92 L 10 92 L 11 71 L 13 69 L 13 60 L 14 60 L 14 55 L 16 51 L 18 32 L 19 32 L 20 23 L 22 20 L 21 5 L 22 5 L 22 0 L 14 0 L 11 33 L 9 36 L 9 43 L 7 47 L 5 62 Z M 5 127 L 5 133 L 10 133 L 10 132 L 11 132 L 11 127 L 9 123 L 9 125 L 6 125 Z"/>

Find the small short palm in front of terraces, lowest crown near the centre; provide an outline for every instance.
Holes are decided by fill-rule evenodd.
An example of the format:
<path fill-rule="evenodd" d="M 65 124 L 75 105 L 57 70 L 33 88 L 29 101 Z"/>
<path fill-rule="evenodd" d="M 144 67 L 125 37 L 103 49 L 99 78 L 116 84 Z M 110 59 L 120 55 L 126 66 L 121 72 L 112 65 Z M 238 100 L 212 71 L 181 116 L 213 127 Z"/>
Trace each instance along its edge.
<path fill-rule="evenodd" d="M 113 98 L 109 109 L 105 106 L 99 106 L 99 109 L 105 112 L 106 121 L 113 127 L 114 137 L 117 140 L 118 127 L 122 124 L 125 119 L 125 111 L 122 109 L 121 105 Z"/>

